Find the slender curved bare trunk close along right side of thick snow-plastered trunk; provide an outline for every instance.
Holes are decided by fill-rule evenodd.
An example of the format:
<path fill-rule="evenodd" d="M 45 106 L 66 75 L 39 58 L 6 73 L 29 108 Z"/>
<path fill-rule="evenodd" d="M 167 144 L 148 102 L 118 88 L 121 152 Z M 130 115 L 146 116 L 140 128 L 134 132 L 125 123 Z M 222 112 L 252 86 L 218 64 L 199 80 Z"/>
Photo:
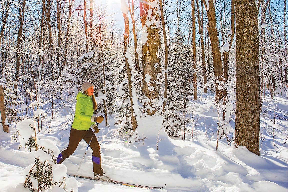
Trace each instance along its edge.
<path fill-rule="evenodd" d="M 168 43 L 167 43 L 167 35 L 166 35 L 166 26 L 165 26 L 165 18 L 164 18 L 164 11 L 163 11 L 163 3 L 162 0 L 159 0 L 160 3 L 160 12 L 161 12 L 161 22 L 162 22 L 162 28 L 163 28 L 163 37 L 164 37 L 164 45 L 165 45 L 165 90 L 164 90 L 164 102 L 163 102 L 163 114 L 165 113 L 166 105 L 167 105 L 167 94 L 168 94 Z"/>

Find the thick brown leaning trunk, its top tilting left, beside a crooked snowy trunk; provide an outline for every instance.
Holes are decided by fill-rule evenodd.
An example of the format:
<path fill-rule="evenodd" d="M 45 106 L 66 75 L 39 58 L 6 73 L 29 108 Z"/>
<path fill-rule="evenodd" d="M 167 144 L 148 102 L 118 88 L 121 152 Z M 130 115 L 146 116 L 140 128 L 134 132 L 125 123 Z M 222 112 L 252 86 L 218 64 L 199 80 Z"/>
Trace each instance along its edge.
<path fill-rule="evenodd" d="M 221 98 L 223 97 L 223 89 L 218 87 L 219 84 L 223 84 L 223 64 L 221 59 L 220 42 L 216 23 L 215 5 L 214 1 L 211 0 L 209 1 L 209 6 L 207 6 L 206 1 L 203 1 L 203 3 L 207 11 L 207 17 L 209 22 L 209 24 L 207 24 L 207 29 L 211 40 L 212 55 L 214 62 L 214 74 L 216 84 L 215 101 L 219 102 L 219 100 L 221 100 Z"/>

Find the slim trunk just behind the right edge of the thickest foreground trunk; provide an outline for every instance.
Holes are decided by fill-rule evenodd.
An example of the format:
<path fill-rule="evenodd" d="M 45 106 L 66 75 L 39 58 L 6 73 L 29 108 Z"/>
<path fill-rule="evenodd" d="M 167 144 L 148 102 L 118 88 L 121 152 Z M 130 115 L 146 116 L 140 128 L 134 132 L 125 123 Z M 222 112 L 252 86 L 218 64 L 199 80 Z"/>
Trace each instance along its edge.
<path fill-rule="evenodd" d="M 266 10 L 270 0 L 265 3 L 265 0 L 261 1 L 261 23 L 266 24 Z M 284 24 L 285 25 L 285 24 Z M 264 90 L 264 54 L 266 54 L 266 28 L 261 28 L 261 48 L 262 48 L 262 60 L 261 60 L 261 94 L 260 94 L 260 112 L 262 111 L 262 101 L 263 101 L 263 90 Z"/>

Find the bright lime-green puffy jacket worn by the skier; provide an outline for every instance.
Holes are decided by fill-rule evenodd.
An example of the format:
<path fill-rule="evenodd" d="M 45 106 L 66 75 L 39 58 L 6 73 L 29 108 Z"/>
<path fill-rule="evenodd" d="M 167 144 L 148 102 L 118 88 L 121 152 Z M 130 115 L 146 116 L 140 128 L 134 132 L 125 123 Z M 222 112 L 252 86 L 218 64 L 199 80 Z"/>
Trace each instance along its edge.
<path fill-rule="evenodd" d="M 92 96 L 87 96 L 80 91 L 76 99 L 76 112 L 72 128 L 87 131 L 90 129 L 91 125 L 95 124 L 91 122 L 94 113 Z"/>

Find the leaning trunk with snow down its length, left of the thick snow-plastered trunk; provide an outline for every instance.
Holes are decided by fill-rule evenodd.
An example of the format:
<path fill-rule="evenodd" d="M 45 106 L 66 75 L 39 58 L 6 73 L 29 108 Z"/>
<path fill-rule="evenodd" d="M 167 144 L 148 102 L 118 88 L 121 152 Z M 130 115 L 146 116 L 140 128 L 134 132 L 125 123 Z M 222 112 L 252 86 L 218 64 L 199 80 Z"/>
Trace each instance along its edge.
<path fill-rule="evenodd" d="M 138 103 L 135 98 L 136 96 L 136 88 L 135 88 L 135 82 L 134 82 L 134 74 L 133 74 L 133 64 L 132 64 L 132 58 L 130 55 L 130 49 L 129 49 L 129 18 L 128 18 L 128 9 L 127 9 L 127 4 L 125 0 L 121 0 L 121 6 L 122 6 L 122 12 L 123 12 L 123 17 L 124 17 L 124 22 L 125 22 L 125 32 L 124 32 L 124 55 L 125 55 L 125 64 L 126 64 L 126 71 L 128 75 L 128 85 L 129 85 L 129 94 L 130 94 L 130 110 L 131 110 L 131 124 L 133 131 L 136 131 L 136 128 L 138 127 L 137 121 L 136 121 L 136 114 L 134 112 L 135 110 L 138 110 Z M 133 97 L 133 92 L 134 92 L 134 97 Z M 137 105 L 137 106 L 135 106 Z"/>

